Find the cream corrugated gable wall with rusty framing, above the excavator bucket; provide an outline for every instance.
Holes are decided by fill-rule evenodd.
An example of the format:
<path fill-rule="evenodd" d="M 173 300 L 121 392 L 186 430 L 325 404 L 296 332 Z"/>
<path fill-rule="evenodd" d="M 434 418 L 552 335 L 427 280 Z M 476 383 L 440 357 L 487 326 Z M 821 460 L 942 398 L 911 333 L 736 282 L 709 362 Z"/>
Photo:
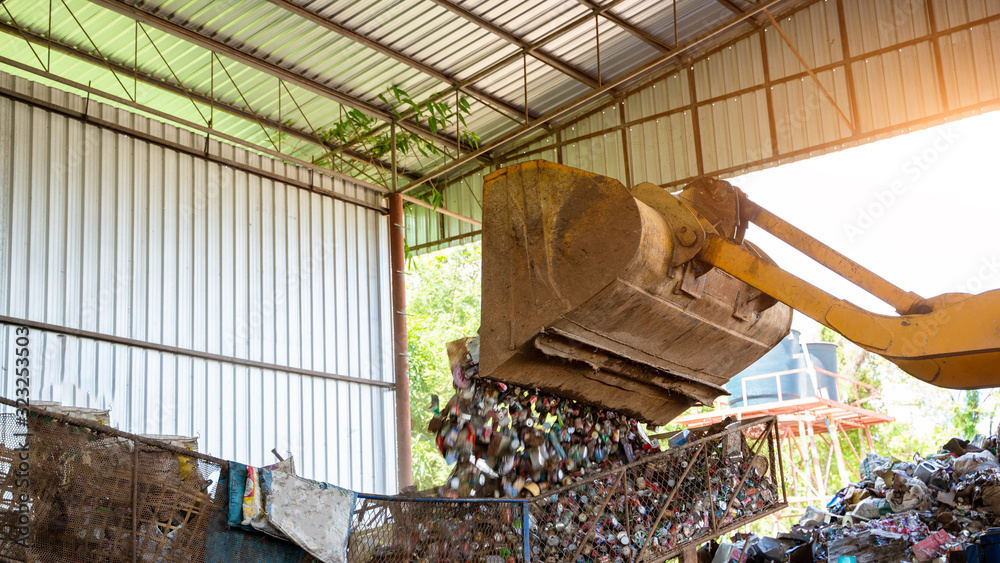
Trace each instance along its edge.
<path fill-rule="evenodd" d="M 497 162 L 542 158 L 626 184 L 674 187 L 1000 108 L 1000 0 L 817 0 L 778 23 L 850 125 L 761 19 L 747 36 Z M 445 189 L 448 209 L 453 191 Z M 410 241 L 428 250 L 465 242 L 449 238 L 468 229 L 461 221 L 433 215 L 415 211 Z"/>

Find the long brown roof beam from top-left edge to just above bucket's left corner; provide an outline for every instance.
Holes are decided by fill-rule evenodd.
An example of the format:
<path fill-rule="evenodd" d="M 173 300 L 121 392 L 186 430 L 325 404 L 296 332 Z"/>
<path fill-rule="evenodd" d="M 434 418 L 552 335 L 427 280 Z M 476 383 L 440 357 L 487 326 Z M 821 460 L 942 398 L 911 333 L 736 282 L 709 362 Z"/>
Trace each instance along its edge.
<path fill-rule="evenodd" d="M 221 41 L 202 35 L 201 33 L 189 29 L 185 26 L 166 20 L 158 15 L 151 14 L 143 10 L 142 8 L 128 4 L 123 0 L 90 0 L 90 1 L 94 4 L 102 6 L 109 10 L 118 12 L 119 14 L 126 16 L 128 18 L 153 26 L 159 29 L 160 31 L 184 39 L 185 41 L 198 45 L 202 48 L 214 51 L 220 55 L 224 55 L 227 58 L 230 58 L 234 61 L 238 61 L 249 67 L 257 69 L 258 71 L 265 72 L 272 76 L 278 77 L 289 84 L 294 84 L 299 88 L 302 88 L 304 90 L 309 90 L 314 94 L 330 98 L 345 106 L 357 109 L 358 111 L 364 112 L 371 117 L 386 122 L 391 122 L 393 120 L 392 113 L 386 109 L 378 107 L 374 104 L 371 104 L 369 102 L 351 96 L 344 92 L 341 92 L 340 90 L 327 86 L 326 84 L 322 84 L 320 82 L 316 82 L 315 80 L 310 80 L 308 78 L 305 78 L 304 76 L 295 73 L 291 70 L 288 70 L 287 68 L 257 58 L 251 54 L 248 54 L 244 51 L 231 47 L 225 43 L 222 43 Z M 433 133 L 430 131 L 430 129 L 422 125 L 413 123 L 411 121 L 401 121 L 399 125 L 404 129 L 406 129 L 407 131 L 410 131 L 411 133 L 419 135 L 429 141 L 440 143 L 451 150 L 456 150 L 458 148 L 458 143 L 456 142 L 455 139 L 452 139 L 451 137 L 442 135 L 440 133 Z M 461 148 L 462 152 L 466 153 L 475 150 L 474 147 L 467 146 L 464 144 L 462 145 Z"/>

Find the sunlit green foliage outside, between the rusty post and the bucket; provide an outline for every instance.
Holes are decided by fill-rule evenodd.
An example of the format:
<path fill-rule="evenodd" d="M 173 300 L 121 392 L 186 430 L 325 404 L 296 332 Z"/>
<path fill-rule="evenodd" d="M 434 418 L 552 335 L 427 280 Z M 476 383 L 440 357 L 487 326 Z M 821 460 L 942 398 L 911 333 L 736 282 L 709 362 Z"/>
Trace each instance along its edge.
<path fill-rule="evenodd" d="M 445 345 L 479 329 L 481 257 L 477 242 L 414 257 L 407 269 L 413 482 L 421 490 L 440 485 L 450 472 L 427 432 L 428 407 L 432 395 L 442 407 L 452 395 Z"/>

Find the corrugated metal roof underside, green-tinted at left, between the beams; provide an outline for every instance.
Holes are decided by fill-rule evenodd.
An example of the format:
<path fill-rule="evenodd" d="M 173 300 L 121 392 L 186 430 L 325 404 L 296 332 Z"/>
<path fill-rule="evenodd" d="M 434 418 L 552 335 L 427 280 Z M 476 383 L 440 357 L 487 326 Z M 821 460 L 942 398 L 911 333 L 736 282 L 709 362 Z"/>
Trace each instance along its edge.
<path fill-rule="evenodd" d="M 100 4 L 107 5 L 109 1 Z M 389 85 L 403 88 L 416 100 L 427 99 L 450 86 L 384 52 L 293 13 L 281 5 L 282 1 L 146 0 L 134 6 L 373 106 L 384 105 L 378 95 Z M 476 18 L 526 43 L 538 41 L 582 19 L 581 25 L 546 43 L 541 52 L 559 59 L 573 72 L 592 77 L 598 74 L 596 27 L 599 26 L 600 70 L 604 80 L 622 76 L 660 54 L 657 48 L 609 19 L 600 17 L 595 23 L 588 16 L 592 13 L 591 7 L 578 0 L 455 1 L 454 9 L 443 5 L 452 0 L 290 1 L 294 6 L 354 30 L 457 80 L 467 80 L 498 65 L 515 56 L 520 48 L 478 25 L 473 21 Z M 208 49 L 148 24 L 137 29 L 133 19 L 102 5 L 87 0 L 66 0 L 66 7 L 62 2 L 53 3 L 52 39 L 83 52 L 99 53 L 126 67 L 138 61 L 139 72 L 143 74 L 183 85 L 303 132 L 328 127 L 342 116 L 345 108 L 341 103 L 295 85 L 288 85 L 291 96 L 284 92 L 279 104 L 280 88 L 275 76 L 224 55 L 220 55 L 213 73 Z M 113 0 L 110 6 L 128 9 L 133 5 Z M 48 3 L 10 2 L 7 7 L 18 25 L 36 36 L 48 36 Z M 462 11 L 468 14 L 458 13 Z M 675 41 L 684 43 L 732 17 L 717 0 L 678 0 L 675 33 L 672 2 L 627 0 L 619 2 L 609 12 L 669 45 Z M 8 19 L 6 14 L 0 17 L 9 24 Z M 4 56 L 38 66 L 34 55 L 16 34 L 0 37 L 0 45 L 4 47 Z M 42 53 L 43 60 L 47 60 L 49 55 L 45 52 L 44 41 L 36 45 L 36 49 Z M 81 82 L 93 81 L 95 87 L 112 95 L 130 97 L 138 93 L 140 103 L 195 122 L 205 122 L 210 113 L 206 105 L 192 104 L 175 93 L 136 87 L 127 72 L 119 73 L 116 78 L 107 69 L 95 66 L 93 61 L 76 60 L 58 52 L 54 52 L 52 58 L 54 73 Z M 550 112 L 590 89 L 589 85 L 534 56 L 527 58 L 527 69 L 522 59 L 515 57 L 495 72 L 476 80 L 472 86 L 514 108 L 524 106 L 527 90 L 527 106 L 532 115 Z M 466 129 L 480 135 L 484 143 L 519 127 L 510 116 L 501 115 L 472 96 L 467 97 L 472 101 L 473 113 Z M 448 100 L 450 102 L 451 98 Z M 267 128 L 265 133 L 253 120 L 220 116 L 218 112 L 213 126 L 263 145 L 270 145 L 277 137 L 273 127 Z M 452 137 L 455 133 L 454 127 L 445 131 Z M 322 152 L 315 145 L 307 144 L 301 146 L 295 156 L 308 160 L 319 157 Z M 411 155 L 401 163 L 419 172 L 433 169 L 442 161 L 442 157 Z"/>

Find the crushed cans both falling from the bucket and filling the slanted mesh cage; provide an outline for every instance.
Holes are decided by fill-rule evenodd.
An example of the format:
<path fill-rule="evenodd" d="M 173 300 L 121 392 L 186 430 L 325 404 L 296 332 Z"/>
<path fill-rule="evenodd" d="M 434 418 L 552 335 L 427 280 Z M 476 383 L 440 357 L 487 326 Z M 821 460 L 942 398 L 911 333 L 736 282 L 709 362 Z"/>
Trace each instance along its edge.
<path fill-rule="evenodd" d="M 456 465 L 438 494 L 528 500 L 533 559 L 662 560 L 785 506 L 772 419 L 685 431 L 661 449 L 635 419 L 477 379 L 475 350 L 449 345 L 456 393 L 430 429 Z"/>

